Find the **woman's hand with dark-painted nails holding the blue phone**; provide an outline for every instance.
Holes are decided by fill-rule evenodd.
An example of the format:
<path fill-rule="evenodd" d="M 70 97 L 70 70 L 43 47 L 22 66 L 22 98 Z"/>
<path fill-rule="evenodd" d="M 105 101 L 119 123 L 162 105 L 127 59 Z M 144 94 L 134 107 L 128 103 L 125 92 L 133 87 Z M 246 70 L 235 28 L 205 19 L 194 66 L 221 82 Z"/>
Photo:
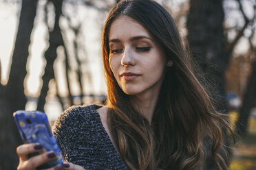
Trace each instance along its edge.
<path fill-rule="evenodd" d="M 34 170 L 36 167 L 43 165 L 45 162 L 50 160 L 54 160 L 56 158 L 56 154 L 54 151 L 45 151 L 43 154 L 39 154 L 37 156 L 33 156 L 28 158 L 28 154 L 32 154 L 35 152 L 43 152 L 43 146 L 39 143 L 28 143 L 23 144 L 17 147 L 17 154 L 19 156 L 19 166 L 18 170 Z M 52 167 L 52 169 L 59 169 L 59 165 L 56 167 Z M 62 166 L 61 166 L 62 167 Z"/>

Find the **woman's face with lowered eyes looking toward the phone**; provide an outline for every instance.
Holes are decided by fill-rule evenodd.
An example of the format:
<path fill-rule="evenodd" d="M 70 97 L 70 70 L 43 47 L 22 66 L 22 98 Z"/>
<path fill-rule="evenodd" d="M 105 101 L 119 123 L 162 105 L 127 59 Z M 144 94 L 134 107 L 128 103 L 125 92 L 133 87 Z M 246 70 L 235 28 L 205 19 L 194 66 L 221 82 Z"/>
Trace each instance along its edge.
<path fill-rule="evenodd" d="M 119 16 L 109 29 L 109 64 L 127 95 L 158 95 L 167 58 L 145 27 Z"/>

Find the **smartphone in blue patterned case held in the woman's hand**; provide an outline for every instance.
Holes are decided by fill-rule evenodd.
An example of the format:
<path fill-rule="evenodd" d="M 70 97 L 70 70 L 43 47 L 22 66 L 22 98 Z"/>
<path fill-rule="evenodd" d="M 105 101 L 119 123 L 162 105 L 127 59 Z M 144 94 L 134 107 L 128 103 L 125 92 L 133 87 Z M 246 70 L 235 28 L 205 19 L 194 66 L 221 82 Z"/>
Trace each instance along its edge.
<path fill-rule="evenodd" d="M 63 164 L 61 151 L 58 148 L 56 138 L 52 134 L 52 128 L 44 112 L 18 110 L 13 113 L 13 117 L 24 143 L 40 143 L 45 151 L 55 151 L 55 160 L 46 162 L 36 169 L 47 169 Z M 41 153 L 37 152 L 29 156 L 38 154 Z"/>

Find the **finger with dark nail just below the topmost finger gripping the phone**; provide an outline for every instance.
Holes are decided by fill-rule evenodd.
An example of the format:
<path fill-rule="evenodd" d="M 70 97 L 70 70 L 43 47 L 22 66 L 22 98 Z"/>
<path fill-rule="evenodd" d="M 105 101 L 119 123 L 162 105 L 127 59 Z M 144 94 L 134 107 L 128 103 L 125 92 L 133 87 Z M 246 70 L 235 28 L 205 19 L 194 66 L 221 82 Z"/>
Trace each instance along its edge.
<path fill-rule="evenodd" d="M 38 156 L 33 156 L 32 158 L 26 161 L 28 169 L 35 169 L 39 165 L 43 165 L 45 162 L 56 159 L 56 154 L 54 151 L 47 151 Z"/>

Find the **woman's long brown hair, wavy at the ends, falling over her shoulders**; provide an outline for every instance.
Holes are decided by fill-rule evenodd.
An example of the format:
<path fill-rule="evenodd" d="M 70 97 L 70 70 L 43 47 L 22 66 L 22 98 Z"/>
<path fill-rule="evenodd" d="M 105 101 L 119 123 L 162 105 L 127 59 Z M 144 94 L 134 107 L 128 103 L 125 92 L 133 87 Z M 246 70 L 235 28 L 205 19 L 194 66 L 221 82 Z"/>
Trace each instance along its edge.
<path fill-rule="evenodd" d="M 122 15 L 148 29 L 173 61 L 164 73 L 151 124 L 132 106 L 109 66 L 109 27 Z M 151 0 L 121 1 L 107 17 L 102 48 L 111 137 L 130 169 L 199 169 L 206 155 L 206 137 L 211 138 L 217 167 L 226 167 L 219 153 L 222 128 L 229 128 L 227 117 L 215 110 L 195 76 L 189 52 L 167 10 Z"/>

